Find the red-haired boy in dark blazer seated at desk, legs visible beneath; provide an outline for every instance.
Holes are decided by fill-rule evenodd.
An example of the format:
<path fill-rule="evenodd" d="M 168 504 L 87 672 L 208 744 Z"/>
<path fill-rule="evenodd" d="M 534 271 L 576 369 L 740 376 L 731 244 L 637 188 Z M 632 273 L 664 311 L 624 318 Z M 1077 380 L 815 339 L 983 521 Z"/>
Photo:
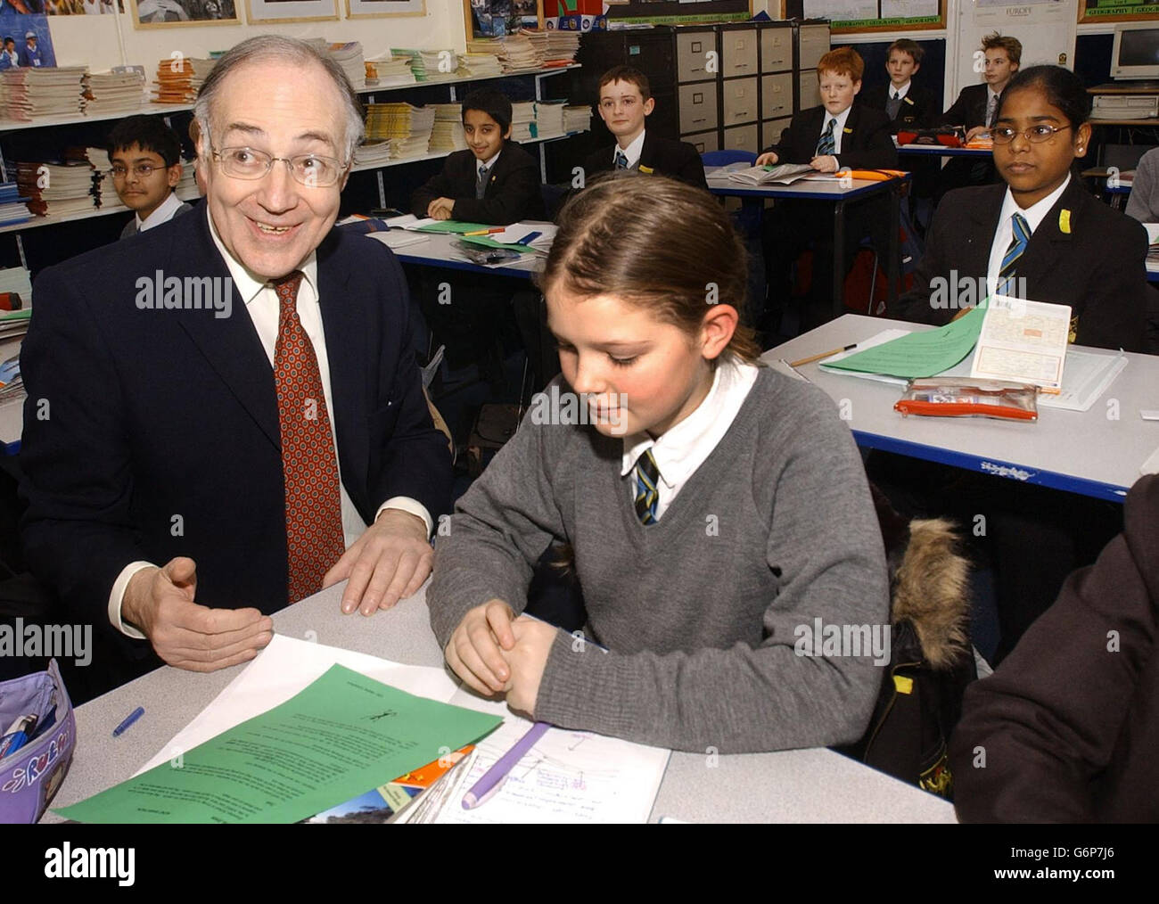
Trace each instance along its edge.
<path fill-rule="evenodd" d="M 809 163 L 819 173 L 895 168 L 897 151 L 885 111 L 853 103 L 861 90 L 863 73 L 865 60 L 852 48 L 838 48 L 823 56 L 817 63 L 821 105 L 796 114 L 781 133 L 781 140 L 757 158 L 757 166 Z M 892 198 L 888 202 L 894 203 Z M 833 212 L 828 204 L 788 201 L 774 205 L 772 216 L 766 218 L 764 236 L 768 296 L 759 326 L 766 338 L 778 328 L 782 305 L 789 297 L 793 262 L 810 242 L 814 245 L 811 307 L 817 319 L 828 319 L 834 250 L 848 264 L 870 229 L 882 232 L 882 224 L 888 223 L 884 210 L 870 203 L 850 205 L 845 217 L 845 247 L 834 249 Z M 873 239 L 877 247 L 884 248 L 888 235 L 874 234 Z"/>

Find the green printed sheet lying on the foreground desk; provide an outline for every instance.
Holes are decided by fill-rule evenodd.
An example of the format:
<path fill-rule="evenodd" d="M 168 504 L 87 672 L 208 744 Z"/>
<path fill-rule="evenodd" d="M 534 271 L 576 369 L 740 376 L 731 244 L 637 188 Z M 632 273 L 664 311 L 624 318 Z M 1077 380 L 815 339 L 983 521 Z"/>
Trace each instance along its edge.
<path fill-rule="evenodd" d="M 502 721 L 334 665 L 286 702 L 176 761 L 54 811 L 85 823 L 293 823 L 478 741 Z"/>

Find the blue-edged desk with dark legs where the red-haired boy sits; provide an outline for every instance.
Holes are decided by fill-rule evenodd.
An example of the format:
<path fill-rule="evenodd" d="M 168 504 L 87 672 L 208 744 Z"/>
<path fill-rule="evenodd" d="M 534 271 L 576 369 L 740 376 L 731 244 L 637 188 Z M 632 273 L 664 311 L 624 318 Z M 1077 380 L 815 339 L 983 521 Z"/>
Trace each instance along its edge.
<path fill-rule="evenodd" d="M 894 192 L 898 195 L 898 203 L 889 205 L 889 250 L 885 262 L 885 275 L 888 278 L 887 298 L 892 302 L 897 298 L 897 283 L 901 279 L 901 210 L 899 198 L 902 185 L 910 181 L 909 173 L 904 178 L 890 178 L 883 182 L 872 182 L 869 180 L 855 178 L 847 185 L 840 181 L 829 182 L 814 180 L 799 180 L 790 185 L 743 185 L 726 178 L 714 178 L 713 174 L 720 167 L 706 167 L 705 177 L 708 180 L 708 190 L 719 197 L 742 198 L 745 204 L 763 203 L 765 198 L 786 198 L 793 201 L 816 201 L 828 202 L 833 205 L 833 316 L 838 318 L 845 312 L 845 261 L 841 261 L 845 247 L 845 205 L 853 201 L 865 201 L 874 195 Z"/>

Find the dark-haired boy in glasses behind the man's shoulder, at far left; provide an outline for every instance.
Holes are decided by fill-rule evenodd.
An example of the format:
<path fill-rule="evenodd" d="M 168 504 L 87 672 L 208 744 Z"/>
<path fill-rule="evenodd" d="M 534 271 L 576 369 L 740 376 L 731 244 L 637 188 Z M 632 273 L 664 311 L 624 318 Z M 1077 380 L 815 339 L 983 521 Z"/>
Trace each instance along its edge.
<path fill-rule="evenodd" d="M 136 216 L 122 239 L 152 229 L 192 210 L 174 189 L 181 181 L 181 139 L 155 116 L 130 116 L 109 132 L 112 188 Z"/>

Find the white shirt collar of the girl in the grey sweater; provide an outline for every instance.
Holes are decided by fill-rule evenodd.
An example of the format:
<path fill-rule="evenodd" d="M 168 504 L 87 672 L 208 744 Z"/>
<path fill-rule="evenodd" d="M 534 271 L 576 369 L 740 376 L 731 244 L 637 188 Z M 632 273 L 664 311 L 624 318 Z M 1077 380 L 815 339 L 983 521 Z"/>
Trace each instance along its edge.
<path fill-rule="evenodd" d="M 624 437 L 624 459 L 620 467 L 621 476 L 633 473 L 639 459 L 649 449 L 656 459 L 659 481 L 656 483 L 656 518 L 663 517 L 672 500 L 684 488 L 705 459 L 720 445 L 732 421 L 736 420 L 741 406 L 749 398 L 749 391 L 757 381 L 758 369 L 755 364 L 742 362 L 732 355 L 727 355 L 713 374 L 713 385 L 705 400 L 680 423 L 672 427 L 659 439 L 653 439 L 648 433 L 633 433 Z M 629 479 L 628 494 L 636 497 L 636 481 Z"/>

